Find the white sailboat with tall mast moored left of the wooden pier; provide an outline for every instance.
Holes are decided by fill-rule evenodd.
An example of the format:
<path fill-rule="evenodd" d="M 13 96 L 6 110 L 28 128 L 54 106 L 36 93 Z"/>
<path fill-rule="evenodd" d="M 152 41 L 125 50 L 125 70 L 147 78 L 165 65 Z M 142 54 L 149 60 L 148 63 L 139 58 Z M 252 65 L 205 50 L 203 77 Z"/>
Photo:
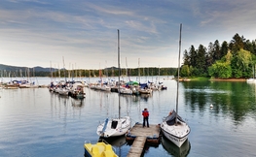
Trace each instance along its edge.
<path fill-rule="evenodd" d="M 119 89 L 120 89 L 120 46 L 119 46 L 119 30 L 118 30 L 118 67 L 119 67 Z M 129 116 L 120 117 L 120 90 L 119 90 L 119 117 L 106 118 L 105 121 L 98 125 L 96 133 L 100 138 L 110 138 L 124 136 L 131 127 L 131 119 Z"/>

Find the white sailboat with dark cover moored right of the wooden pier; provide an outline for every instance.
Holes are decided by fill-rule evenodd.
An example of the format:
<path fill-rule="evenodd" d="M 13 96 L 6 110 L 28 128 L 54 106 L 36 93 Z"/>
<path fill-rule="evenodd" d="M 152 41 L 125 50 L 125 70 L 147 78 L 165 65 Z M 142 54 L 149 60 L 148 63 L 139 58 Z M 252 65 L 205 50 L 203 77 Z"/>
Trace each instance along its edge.
<path fill-rule="evenodd" d="M 161 124 L 161 130 L 169 141 L 172 141 L 180 147 L 187 139 L 190 133 L 189 125 L 178 115 L 178 91 L 179 91 L 179 69 L 180 69 L 180 47 L 181 47 L 181 28 L 180 24 L 180 39 L 179 39 L 179 60 L 178 60 L 178 79 L 177 79 L 177 96 L 176 96 L 176 111 L 169 112 Z"/>

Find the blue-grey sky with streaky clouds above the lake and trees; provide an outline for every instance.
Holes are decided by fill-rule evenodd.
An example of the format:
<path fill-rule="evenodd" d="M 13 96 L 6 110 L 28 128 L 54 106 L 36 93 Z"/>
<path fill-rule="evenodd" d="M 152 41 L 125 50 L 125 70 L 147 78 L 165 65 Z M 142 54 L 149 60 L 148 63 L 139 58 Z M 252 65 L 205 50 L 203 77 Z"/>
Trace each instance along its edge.
<path fill-rule="evenodd" d="M 0 64 L 178 67 L 191 46 L 256 39 L 254 0 L 1 0 Z"/>

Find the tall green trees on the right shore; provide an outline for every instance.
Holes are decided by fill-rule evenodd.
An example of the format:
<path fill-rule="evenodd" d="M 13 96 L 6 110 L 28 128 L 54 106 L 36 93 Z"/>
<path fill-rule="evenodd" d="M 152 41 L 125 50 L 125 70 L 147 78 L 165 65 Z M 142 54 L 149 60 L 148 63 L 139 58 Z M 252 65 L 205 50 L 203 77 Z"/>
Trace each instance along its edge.
<path fill-rule="evenodd" d="M 252 78 L 256 63 L 255 40 L 246 40 L 238 33 L 230 43 L 216 40 L 208 47 L 185 49 L 181 77 Z M 253 77 L 254 78 L 254 77 Z"/>

